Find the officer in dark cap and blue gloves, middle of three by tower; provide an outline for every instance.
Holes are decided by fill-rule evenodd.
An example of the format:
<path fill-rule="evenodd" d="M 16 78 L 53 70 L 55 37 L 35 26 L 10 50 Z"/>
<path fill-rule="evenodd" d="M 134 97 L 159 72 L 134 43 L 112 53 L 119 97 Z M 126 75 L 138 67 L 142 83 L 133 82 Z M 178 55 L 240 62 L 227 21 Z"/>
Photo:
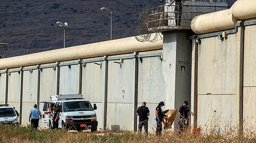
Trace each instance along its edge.
<path fill-rule="evenodd" d="M 162 132 L 162 119 L 163 119 L 163 111 L 161 107 L 165 106 L 165 103 L 161 101 L 157 106 L 156 106 L 156 135 L 161 136 Z"/>

